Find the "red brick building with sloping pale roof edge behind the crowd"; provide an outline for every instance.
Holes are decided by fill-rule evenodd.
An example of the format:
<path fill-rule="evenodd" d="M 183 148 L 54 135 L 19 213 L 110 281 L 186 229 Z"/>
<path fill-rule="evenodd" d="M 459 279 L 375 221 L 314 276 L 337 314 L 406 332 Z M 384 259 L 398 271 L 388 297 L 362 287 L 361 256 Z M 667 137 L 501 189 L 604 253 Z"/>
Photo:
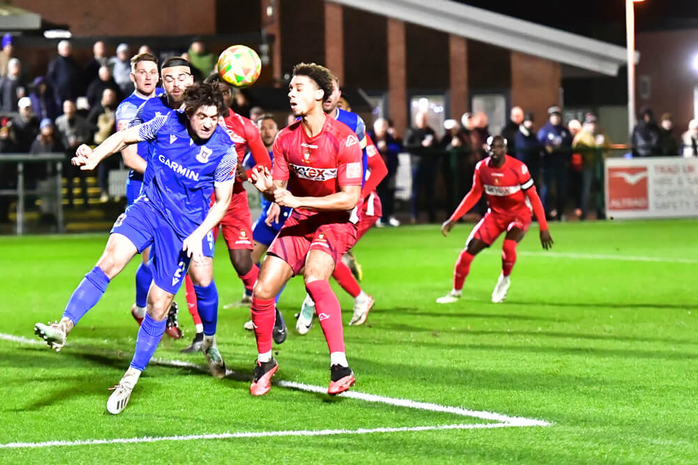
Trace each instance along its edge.
<path fill-rule="evenodd" d="M 363 89 L 399 131 L 410 125 L 418 96 L 435 97 L 442 118 L 485 105 L 496 127 L 505 120 L 493 119 L 505 119 L 510 106 L 520 105 L 540 123 L 549 105 L 563 103 L 563 77 L 616 75 L 625 61 L 622 47 L 448 0 L 12 3 L 68 26 L 83 39 L 85 56 L 94 38 L 112 38 L 107 41 L 114 46 L 128 37 L 182 42 L 194 35 L 256 33 L 257 42 L 268 37 L 270 43 L 260 84 L 280 85 L 299 61 L 325 63 L 343 86 Z M 43 54 L 47 59 L 52 52 Z"/>

